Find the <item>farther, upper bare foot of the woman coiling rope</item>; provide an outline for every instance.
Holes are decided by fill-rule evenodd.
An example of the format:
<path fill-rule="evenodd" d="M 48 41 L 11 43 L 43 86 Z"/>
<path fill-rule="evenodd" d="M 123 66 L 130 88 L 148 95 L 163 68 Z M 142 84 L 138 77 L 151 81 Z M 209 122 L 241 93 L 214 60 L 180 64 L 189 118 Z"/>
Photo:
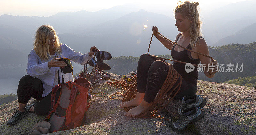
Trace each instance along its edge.
<path fill-rule="evenodd" d="M 130 101 L 124 101 L 119 105 L 119 108 L 124 108 L 124 107 L 131 107 L 131 106 L 138 106 L 140 105 L 140 103 L 142 102 L 143 98 L 144 98 L 145 93 L 139 93 L 136 92 L 136 96 L 134 99 L 130 100 Z"/>

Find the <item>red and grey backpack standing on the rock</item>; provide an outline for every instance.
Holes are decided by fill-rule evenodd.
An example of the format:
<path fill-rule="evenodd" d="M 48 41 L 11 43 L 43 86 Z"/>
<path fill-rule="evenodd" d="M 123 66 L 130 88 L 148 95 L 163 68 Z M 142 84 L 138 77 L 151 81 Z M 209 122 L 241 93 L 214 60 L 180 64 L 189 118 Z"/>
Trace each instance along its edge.
<path fill-rule="evenodd" d="M 90 82 L 78 78 L 52 88 L 51 110 L 45 121 L 51 123 L 50 131 L 62 131 L 81 126 L 90 104 L 87 103 L 87 92 Z"/>

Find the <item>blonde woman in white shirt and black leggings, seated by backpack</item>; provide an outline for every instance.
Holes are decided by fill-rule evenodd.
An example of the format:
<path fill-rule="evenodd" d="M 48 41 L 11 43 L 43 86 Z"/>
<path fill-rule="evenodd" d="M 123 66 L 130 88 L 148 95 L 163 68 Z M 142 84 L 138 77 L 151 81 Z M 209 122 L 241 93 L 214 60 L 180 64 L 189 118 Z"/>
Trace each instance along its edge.
<path fill-rule="evenodd" d="M 91 59 L 92 54 L 99 51 L 95 46 L 90 48 L 86 54 L 75 52 L 66 44 L 60 44 L 56 31 L 50 25 L 42 25 L 36 31 L 34 49 L 28 55 L 27 74 L 20 79 L 17 95 L 19 108 L 15 110 L 7 125 L 14 125 L 29 112 L 37 115 L 47 115 L 51 107 L 51 91 L 62 81 L 62 76 L 67 81 L 74 81 L 72 73 L 63 74 L 60 68 L 67 64 L 64 61 L 54 59 L 54 56 L 61 54 L 63 57 L 84 65 Z M 33 97 L 39 102 L 26 106 Z"/>

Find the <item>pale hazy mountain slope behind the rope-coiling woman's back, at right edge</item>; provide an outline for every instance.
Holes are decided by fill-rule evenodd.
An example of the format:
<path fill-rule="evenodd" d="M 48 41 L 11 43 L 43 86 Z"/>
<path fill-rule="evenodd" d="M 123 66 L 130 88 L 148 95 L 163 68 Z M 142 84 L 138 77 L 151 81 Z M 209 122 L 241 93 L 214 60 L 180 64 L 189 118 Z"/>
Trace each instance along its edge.
<path fill-rule="evenodd" d="M 203 34 L 207 44 L 213 44 L 218 40 L 233 35 L 242 28 L 256 22 L 256 0 L 231 3 L 204 14 Z M 250 43 L 250 41 L 246 42 Z"/>

